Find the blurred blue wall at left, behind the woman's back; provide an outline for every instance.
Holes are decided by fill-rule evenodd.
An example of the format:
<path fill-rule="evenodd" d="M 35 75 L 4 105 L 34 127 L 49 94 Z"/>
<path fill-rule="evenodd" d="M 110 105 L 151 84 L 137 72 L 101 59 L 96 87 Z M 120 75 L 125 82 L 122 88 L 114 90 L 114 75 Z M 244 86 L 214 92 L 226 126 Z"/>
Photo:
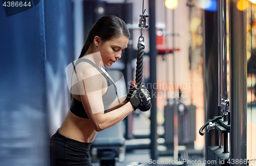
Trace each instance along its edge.
<path fill-rule="evenodd" d="M 0 165 L 49 165 L 49 138 L 69 108 L 71 0 L 41 0 L 7 17 L 0 7 Z"/>

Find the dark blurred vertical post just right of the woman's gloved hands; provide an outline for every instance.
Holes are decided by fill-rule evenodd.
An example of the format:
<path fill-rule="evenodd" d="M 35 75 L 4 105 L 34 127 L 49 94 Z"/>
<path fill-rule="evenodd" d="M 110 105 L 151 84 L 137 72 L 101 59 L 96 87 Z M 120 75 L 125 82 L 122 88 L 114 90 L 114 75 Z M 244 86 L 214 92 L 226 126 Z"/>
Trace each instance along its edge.
<path fill-rule="evenodd" d="M 149 15 L 150 19 L 150 84 L 156 84 L 157 77 L 156 77 L 156 9 L 155 9 L 155 0 L 149 0 Z M 150 87 L 150 86 L 147 86 Z M 156 160 L 158 157 L 158 150 L 157 150 L 157 99 L 153 95 L 157 94 L 156 89 L 151 86 L 150 90 L 152 94 L 152 108 L 151 108 L 151 159 Z"/>

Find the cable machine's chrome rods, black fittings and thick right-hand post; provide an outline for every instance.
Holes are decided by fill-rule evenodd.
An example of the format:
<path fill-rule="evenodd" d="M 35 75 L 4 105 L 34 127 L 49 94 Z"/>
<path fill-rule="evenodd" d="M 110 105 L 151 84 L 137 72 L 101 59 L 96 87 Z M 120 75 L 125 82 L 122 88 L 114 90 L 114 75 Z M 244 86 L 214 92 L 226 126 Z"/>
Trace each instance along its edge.
<path fill-rule="evenodd" d="M 207 165 L 246 165 L 244 162 L 246 161 L 247 120 L 246 10 L 239 11 L 237 2 L 218 1 L 218 115 L 206 122 L 199 133 L 204 135 L 205 132 L 217 129 L 219 146 L 205 145 L 205 159 L 216 161 Z M 230 41 L 230 100 L 227 93 L 227 19 Z M 215 91 L 214 88 L 212 91 Z M 228 145 L 228 133 L 230 133 L 230 145 Z M 236 162 L 237 160 L 239 162 Z"/>

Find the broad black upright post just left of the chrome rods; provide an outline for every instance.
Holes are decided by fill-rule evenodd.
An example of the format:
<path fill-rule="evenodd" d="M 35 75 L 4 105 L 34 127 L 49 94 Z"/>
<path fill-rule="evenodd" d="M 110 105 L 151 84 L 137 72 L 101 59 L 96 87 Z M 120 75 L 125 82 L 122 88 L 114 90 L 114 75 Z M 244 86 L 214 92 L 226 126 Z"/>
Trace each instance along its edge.
<path fill-rule="evenodd" d="M 217 12 L 203 11 L 204 51 L 204 108 L 205 122 L 218 115 L 218 16 Z M 208 147 L 218 146 L 218 131 L 205 134 L 205 159 L 208 160 Z"/>

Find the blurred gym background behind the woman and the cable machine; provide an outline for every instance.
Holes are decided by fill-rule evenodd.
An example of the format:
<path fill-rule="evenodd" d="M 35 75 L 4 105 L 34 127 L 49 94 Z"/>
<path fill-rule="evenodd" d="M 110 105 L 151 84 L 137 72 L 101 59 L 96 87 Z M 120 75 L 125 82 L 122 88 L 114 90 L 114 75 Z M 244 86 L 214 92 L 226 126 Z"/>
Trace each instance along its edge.
<path fill-rule="evenodd" d="M 241 1 L 238 10 L 247 10 L 247 158 L 256 158 L 256 5 Z M 91 148 L 94 165 L 113 155 L 116 165 L 172 161 L 175 142 L 178 158 L 205 159 L 205 140 L 198 131 L 206 107 L 218 100 L 204 95 L 218 86 L 218 68 L 208 66 L 218 61 L 217 6 L 217 0 L 145 0 L 150 27 L 143 29 L 143 80 L 151 86 L 155 105 L 148 112 L 136 110 L 114 130 L 99 132 Z M 91 26 L 104 15 L 120 17 L 131 33 L 123 57 L 106 68 L 123 74 L 125 82 L 118 88 L 125 95 L 129 82 L 135 82 L 141 13 L 142 0 L 41 0 L 9 17 L 0 7 L 0 165 L 49 165 L 50 136 L 70 106 L 66 67 L 79 57 Z M 229 90 L 229 70 L 227 84 Z"/>

